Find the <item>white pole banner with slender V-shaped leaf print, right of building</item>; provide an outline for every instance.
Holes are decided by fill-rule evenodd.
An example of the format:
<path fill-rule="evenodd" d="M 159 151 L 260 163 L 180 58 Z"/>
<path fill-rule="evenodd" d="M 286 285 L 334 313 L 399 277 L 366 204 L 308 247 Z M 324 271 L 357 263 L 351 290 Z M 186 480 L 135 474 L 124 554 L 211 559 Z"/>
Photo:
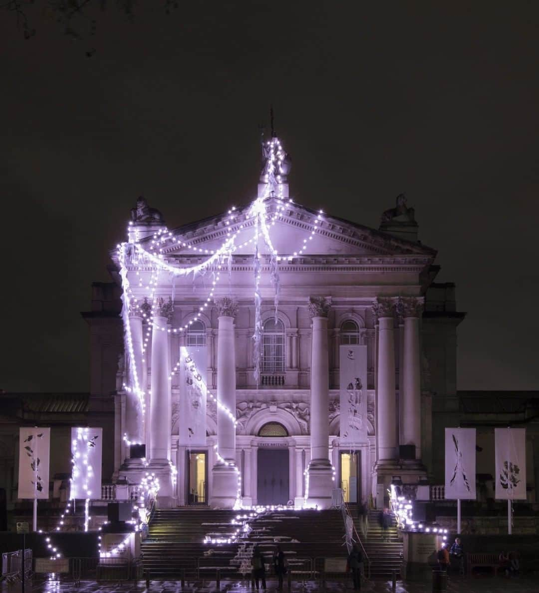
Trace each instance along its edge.
<path fill-rule="evenodd" d="M 476 499 L 476 429 L 445 429 L 445 498 Z"/>

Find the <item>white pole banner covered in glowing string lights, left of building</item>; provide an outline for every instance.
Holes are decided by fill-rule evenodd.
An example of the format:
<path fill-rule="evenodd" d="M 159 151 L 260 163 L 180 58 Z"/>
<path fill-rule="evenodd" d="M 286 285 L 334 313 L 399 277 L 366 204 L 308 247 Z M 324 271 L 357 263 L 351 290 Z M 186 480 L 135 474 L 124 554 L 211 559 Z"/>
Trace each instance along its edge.
<path fill-rule="evenodd" d="M 103 429 L 71 428 L 71 493 L 69 498 L 101 498 Z"/>

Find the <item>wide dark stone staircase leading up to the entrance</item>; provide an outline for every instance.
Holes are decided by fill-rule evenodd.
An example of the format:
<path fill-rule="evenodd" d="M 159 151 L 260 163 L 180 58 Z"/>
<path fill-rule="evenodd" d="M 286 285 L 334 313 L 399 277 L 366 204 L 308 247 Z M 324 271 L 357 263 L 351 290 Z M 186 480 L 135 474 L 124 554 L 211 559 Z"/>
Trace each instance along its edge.
<path fill-rule="evenodd" d="M 354 516 L 355 511 L 351 509 L 351 513 Z M 250 519 L 248 533 L 240 543 L 228 543 L 235 541 L 245 515 L 250 512 L 157 509 L 142 543 L 144 568 L 154 579 L 178 579 L 182 574 L 188 580 L 213 579 L 216 569 L 221 578 L 244 579 L 251 572 L 253 547 L 258 545 L 270 563 L 275 545 L 280 543 L 294 578 L 298 578 L 323 570 L 324 558 L 347 556 L 341 511 L 269 512 Z M 402 553 L 396 525 L 388 530 L 388 541 L 382 541 L 378 515 L 369 513 L 368 537 L 363 540 L 371 578 L 390 577 L 393 570 L 398 574 Z M 213 543 L 205 543 L 208 537 Z"/>

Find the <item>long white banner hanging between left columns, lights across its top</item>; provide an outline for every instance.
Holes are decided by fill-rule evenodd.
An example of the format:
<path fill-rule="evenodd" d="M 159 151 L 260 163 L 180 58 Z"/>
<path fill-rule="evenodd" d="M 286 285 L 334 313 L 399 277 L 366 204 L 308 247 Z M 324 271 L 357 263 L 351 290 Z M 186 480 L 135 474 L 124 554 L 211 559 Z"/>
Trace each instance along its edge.
<path fill-rule="evenodd" d="M 181 347 L 180 398 L 178 400 L 178 444 L 206 445 L 206 346 Z"/>

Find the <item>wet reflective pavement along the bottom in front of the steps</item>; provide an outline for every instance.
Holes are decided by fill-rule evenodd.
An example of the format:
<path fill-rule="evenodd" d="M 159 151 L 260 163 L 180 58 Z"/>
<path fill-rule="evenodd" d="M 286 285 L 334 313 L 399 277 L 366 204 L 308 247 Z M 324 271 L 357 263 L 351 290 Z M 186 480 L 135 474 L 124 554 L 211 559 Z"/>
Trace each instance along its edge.
<path fill-rule="evenodd" d="M 21 585 L 12 584 L 7 585 L 2 583 L 0 585 L 1 593 L 18 593 Z M 391 581 L 369 581 L 365 582 L 361 588 L 362 591 L 371 591 L 372 593 L 430 593 L 432 591 L 432 582 L 407 582 L 397 581 L 396 588 L 392 588 Z M 25 586 L 25 593 L 64 593 L 67 591 L 77 591 L 79 593 L 113 593 L 113 592 L 136 592 L 136 593 L 214 593 L 217 591 L 215 581 L 200 581 L 190 583 L 182 589 L 180 582 L 176 581 L 152 581 L 149 589 L 146 588 L 145 581 L 138 581 L 137 584 L 133 582 L 96 582 L 96 581 L 82 581 L 80 585 L 75 585 L 73 582 L 58 582 L 47 581 L 37 583 L 28 582 Z M 267 582 L 267 593 L 275 593 L 278 591 L 276 582 Z M 347 593 L 352 592 L 352 584 L 345 585 L 343 583 L 328 582 L 324 588 L 313 581 L 301 582 L 292 584 L 292 593 Z M 539 592 L 539 577 L 533 576 L 522 577 L 515 579 L 506 579 L 503 577 L 478 577 L 478 578 L 454 578 L 450 579 L 448 583 L 447 593 L 538 593 Z M 222 582 L 221 592 L 233 593 L 251 593 L 251 588 L 246 582 L 232 581 Z M 287 593 L 285 588 L 283 593 Z"/>

